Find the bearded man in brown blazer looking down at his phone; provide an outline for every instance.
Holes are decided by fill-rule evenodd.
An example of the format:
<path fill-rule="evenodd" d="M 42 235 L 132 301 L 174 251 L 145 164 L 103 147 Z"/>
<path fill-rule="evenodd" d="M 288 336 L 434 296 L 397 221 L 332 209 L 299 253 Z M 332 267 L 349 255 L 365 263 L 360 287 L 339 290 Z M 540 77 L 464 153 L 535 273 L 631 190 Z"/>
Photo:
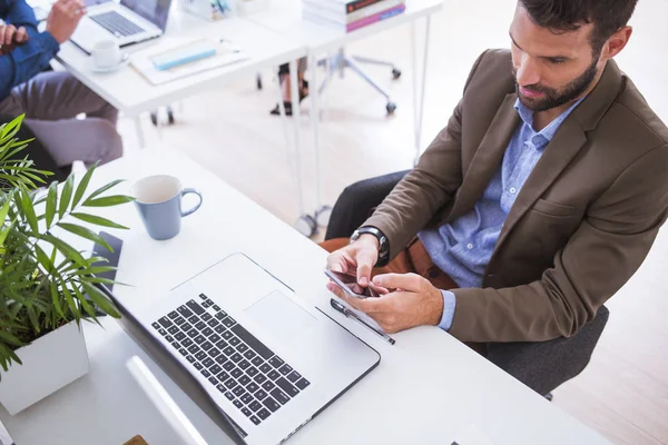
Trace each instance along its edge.
<path fill-rule="evenodd" d="M 612 60 L 635 6 L 520 0 L 511 51 L 478 59 L 418 166 L 350 244 L 323 245 L 331 269 L 385 295 L 330 290 L 390 333 L 438 325 L 463 342 L 590 322 L 667 218 L 668 129 Z"/>

